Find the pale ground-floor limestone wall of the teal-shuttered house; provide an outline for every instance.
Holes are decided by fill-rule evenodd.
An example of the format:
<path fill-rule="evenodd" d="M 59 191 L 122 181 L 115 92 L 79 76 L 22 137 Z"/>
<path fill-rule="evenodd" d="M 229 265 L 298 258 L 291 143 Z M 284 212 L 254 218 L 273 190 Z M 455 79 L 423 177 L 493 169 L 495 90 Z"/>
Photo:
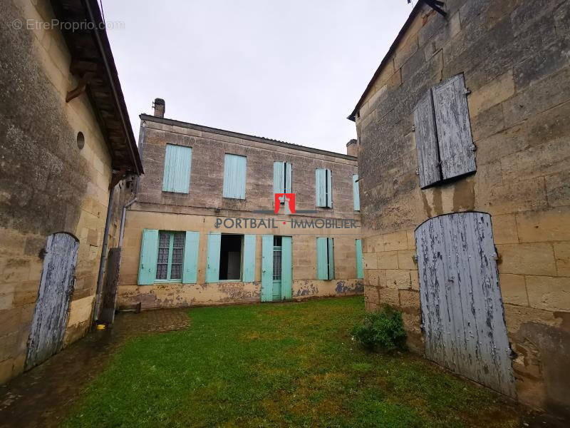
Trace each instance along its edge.
<path fill-rule="evenodd" d="M 224 216 L 224 213 L 220 213 Z M 264 218 L 252 215 L 253 218 Z M 276 216 L 276 229 L 215 228 L 217 216 L 151 211 L 149 205 L 136 203 L 128 210 L 123 240 L 123 258 L 120 265 L 118 305 L 139 303 L 142 309 L 157 307 L 186 307 L 193 305 L 227 305 L 261 301 L 261 235 L 289 235 L 292 242 L 292 272 L 294 300 L 309 297 L 332 297 L 361 294 L 363 280 L 356 273 L 355 240 L 360 238 L 360 228 L 322 230 L 291 229 L 287 216 Z M 226 218 L 225 216 L 223 218 Z M 266 218 L 266 216 L 265 216 Z M 137 285 L 140 243 L 143 229 L 192 230 L 199 232 L 198 272 L 195 284 L 156 282 Z M 255 234 L 254 282 L 205 281 L 207 239 L 209 232 Z M 317 280 L 316 237 L 334 238 L 335 279 Z"/>

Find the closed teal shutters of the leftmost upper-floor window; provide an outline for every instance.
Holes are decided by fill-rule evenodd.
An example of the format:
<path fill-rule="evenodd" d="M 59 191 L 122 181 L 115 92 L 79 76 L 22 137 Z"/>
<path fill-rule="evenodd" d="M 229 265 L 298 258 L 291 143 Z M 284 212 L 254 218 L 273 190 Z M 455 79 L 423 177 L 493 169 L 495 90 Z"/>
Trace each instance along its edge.
<path fill-rule="evenodd" d="M 162 191 L 188 193 L 190 190 L 191 165 L 192 148 L 167 144 Z"/>

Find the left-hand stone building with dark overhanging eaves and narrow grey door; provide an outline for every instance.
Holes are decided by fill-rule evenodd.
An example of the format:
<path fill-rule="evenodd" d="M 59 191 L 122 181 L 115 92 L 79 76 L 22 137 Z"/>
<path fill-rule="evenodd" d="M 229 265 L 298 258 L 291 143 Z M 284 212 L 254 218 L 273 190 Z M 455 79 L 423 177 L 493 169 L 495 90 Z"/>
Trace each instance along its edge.
<path fill-rule="evenodd" d="M 2 1 L 0 24 L 5 382 L 88 331 L 142 164 L 97 1 Z"/>

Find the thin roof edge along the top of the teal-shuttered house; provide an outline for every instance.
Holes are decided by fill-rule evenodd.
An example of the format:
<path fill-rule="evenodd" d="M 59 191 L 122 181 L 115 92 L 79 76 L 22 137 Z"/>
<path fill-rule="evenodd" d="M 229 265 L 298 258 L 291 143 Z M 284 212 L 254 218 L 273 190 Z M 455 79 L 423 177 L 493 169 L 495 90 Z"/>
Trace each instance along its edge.
<path fill-rule="evenodd" d="M 257 141 L 259 143 L 271 144 L 271 146 L 293 148 L 294 150 L 301 150 L 301 151 L 306 151 L 309 153 L 316 153 L 319 155 L 333 156 L 335 158 L 348 159 L 350 161 L 358 161 L 358 158 L 356 158 L 355 156 L 348 156 L 348 155 L 345 155 L 343 153 L 336 153 L 336 152 L 321 150 L 320 148 L 300 146 L 299 144 L 287 143 L 286 141 L 274 140 L 272 138 L 252 136 L 249 134 L 244 134 L 244 133 L 239 133 L 239 132 L 234 132 L 234 131 L 225 131 L 224 129 L 210 128 L 209 126 L 196 125 L 195 123 L 181 122 L 181 121 L 176 121 L 175 119 L 160 118 L 158 116 L 152 116 L 152 115 L 146 114 L 146 113 L 142 113 L 139 117 L 140 117 L 141 121 L 152 121 L 152 122 L 156 122 L 156 123 L 163 123 L 165 125 L 180 126 L 181 128 L 195 129 L 196 131 L 217 133 L 217 134 L 220 134 L 223 136 L 228 136 L 228 137 L 244 138 L 245 140 Z"/>

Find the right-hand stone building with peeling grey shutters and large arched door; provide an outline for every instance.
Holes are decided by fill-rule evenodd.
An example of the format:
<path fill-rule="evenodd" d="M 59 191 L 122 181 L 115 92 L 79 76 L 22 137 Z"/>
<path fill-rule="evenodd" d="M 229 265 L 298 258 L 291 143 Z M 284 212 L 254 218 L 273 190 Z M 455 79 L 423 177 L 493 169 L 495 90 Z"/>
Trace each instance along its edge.
<path fill-rule="evenodd" d="M 433 2 L 432 2 L 433 4 Z M 570 1 L 418 1 L 349 118 L 368 310 L 570 413 Z"/>

